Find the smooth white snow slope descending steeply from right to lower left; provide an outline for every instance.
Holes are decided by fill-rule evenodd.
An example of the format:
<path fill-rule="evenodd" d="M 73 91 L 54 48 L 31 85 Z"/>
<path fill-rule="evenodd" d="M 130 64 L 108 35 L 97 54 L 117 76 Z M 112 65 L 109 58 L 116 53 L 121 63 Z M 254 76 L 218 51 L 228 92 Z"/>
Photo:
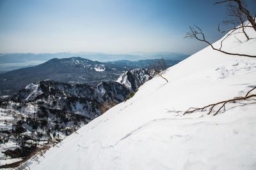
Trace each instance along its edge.
<path fill-rule="evenodd" d="M 251 37 L 255 32 L 247 30 Z M 231 36 L 229 52 L 256 55 L 256 39 Z M 220 41 L 214 43 L 218 46 Z M 256 59 L 210 47 L 170 67 L 128 101 L 84 125 L 40 157 L 31 169 L 256 169 L 256 102 L 230 103 L 215 117 L 182 116 L 256 86 Z M 255 93 L 255 92 L 254 92 Z"/>

